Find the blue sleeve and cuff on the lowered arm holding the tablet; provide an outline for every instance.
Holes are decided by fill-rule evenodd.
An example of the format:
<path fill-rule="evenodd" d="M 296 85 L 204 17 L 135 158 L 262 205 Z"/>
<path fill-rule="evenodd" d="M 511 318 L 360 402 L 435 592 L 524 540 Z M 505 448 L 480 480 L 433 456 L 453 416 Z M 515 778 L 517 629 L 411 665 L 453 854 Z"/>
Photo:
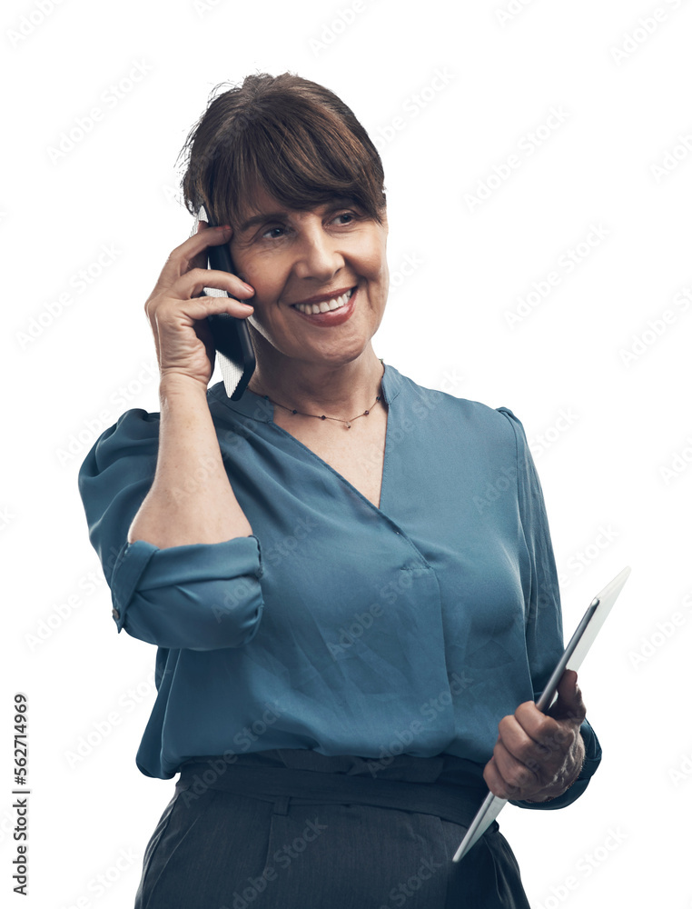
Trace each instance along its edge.
<path fill-rule="evenodd" d="M 517 484 L 519 516 L 526 542 L 529 570 L 525 574 L 526 647 L 534 689 L 538 699 L 564 651 L 562 609 L 560 605 L 558 570 L 550 540 L 548 514 L 523 425 L 507 407 L 498 408 L 514 428 L 517 443 Z M 596 773 L 602 752 L 596 733 L 588 720 L 580 727 L 584 739 L 586 760 L 577 781 L 550 802 L 536 804 L 512 801 L 520 808 L 564 808 L 585 792 L 588 781 Z"/>

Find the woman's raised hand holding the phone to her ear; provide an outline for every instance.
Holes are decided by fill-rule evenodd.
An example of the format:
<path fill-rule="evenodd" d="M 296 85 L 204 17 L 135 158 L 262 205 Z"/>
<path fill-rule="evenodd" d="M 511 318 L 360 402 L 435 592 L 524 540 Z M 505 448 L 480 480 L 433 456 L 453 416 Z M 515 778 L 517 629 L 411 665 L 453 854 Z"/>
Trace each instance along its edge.
<path fill-rule="evenodd" d="M 168 375 L 189 376 L 206 391 L 212 378 L 215 350 L 206 317 L 229 313 L 244 319 L 252 315 L 252 305 L 235 299 L 252 297 L 252 287 L 237 275 L 206 267 L 207 247 L 229 243 L 231 236 L 230 227 L 210 227 L 200 221 L 197 233 L 168 256 L 144 304 L 162 380 Z M 201 296 L 204 287 L 225 290 L 231 296 Z"/>

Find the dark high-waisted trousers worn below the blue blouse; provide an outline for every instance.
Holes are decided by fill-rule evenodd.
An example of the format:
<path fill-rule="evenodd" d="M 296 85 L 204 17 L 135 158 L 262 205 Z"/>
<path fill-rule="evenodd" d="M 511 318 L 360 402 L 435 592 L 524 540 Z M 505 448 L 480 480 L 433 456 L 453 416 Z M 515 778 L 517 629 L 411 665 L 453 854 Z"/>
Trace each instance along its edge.
<path fill-rule="evenodd" d="M 478 766 L 389 761 L 281 750 L 183 765 L 134 909 L 529 909 L 496 822 L 451 861 L 487 794 Z"/>

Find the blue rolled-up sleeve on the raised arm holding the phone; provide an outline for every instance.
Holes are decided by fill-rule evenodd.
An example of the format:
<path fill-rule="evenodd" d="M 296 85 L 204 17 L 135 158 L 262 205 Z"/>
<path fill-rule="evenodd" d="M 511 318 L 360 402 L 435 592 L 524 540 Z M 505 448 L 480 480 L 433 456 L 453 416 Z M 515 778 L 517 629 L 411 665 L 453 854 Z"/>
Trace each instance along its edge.
<path fill-rule="evenodd" d="M 79 476 L 89 537 L 104 568 L 118 632 L 159 647 L 248 644 L 262 618 L 256 536 L 159 549 L 127 542 L 153 483 L 159 415 L 129 410 L 96 440 Z"/>

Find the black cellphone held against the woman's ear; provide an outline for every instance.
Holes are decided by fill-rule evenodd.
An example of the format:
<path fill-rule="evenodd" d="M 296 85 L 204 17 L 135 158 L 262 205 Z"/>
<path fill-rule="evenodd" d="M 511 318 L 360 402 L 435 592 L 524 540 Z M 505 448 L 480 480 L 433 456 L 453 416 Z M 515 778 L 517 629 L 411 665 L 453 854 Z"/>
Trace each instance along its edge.
<path fill-rule="evenodd" d="M 215 227 L 211 218 L 206 216 L 207 213 L 202 207 L 197 216 L 204 218 L 210 227 Z M 228 244 L 220 246 L 207 247 L 207 267 L 221 272 L 230 272 L 235 274 L 233 268 L 231 253 Z M 207 296 L 230 296 L 225 290 L 218 290 L 215 287 L 205 287 L 204 294 Z M 223 386 L 232 401 L 237 401 L 242 397 L 242 393 L 247 388 L 248 382 L 254 372 L 256 361 L 254 348 L 252 347 L 252 338 L 248 326 L 245 325 L 244 319 L 236 319 L 229 313 L 220 313 L 219 315 L 208 315 L 207 323 L 212 332 L 213 345 L 216 348 L 216 356 L 221 368 Z"/>

